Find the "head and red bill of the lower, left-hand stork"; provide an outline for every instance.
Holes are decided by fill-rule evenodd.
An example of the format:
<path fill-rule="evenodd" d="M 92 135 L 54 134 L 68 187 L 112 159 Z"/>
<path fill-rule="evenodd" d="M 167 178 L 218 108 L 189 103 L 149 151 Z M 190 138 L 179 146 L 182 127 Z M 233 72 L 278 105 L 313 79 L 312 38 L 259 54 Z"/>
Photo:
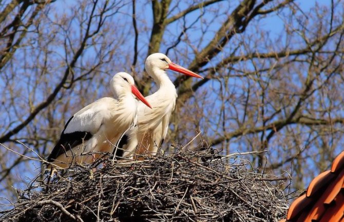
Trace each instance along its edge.
<path fill-rule="evenodd" d="M 136 98 L 140 99 L 142 103 L 151 108 L 147 100 L 140 93 L 138 88 L 135 86 L 133 77 L 126 72 L 116 73 L 110 82 L 111 91 L 115 97 L 121 97 L 132 93 Z"/>

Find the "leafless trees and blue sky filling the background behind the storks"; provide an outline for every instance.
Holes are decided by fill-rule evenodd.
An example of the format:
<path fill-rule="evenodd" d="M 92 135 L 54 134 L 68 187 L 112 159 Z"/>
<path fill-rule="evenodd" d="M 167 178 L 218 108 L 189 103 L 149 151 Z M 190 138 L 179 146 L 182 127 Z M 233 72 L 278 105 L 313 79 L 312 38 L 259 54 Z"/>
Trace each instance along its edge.
<path fill-rule="evenodd" d="M 0 4 L 0 184 L 8 198 L 41 166 L 4 147 L 48 154 L 66 119 L 107 95 L 116 72 L 131 72 L 150 94 L 143 64 L 154 52 L 205 77 L 169 73 L 178 100 L 163 149 L 201 131 L 223 154 L 268 150 L 252 156 L 254 167 L 291 170 L 299 189 L 342 150 L 342 0 L 61 2 Z"/>

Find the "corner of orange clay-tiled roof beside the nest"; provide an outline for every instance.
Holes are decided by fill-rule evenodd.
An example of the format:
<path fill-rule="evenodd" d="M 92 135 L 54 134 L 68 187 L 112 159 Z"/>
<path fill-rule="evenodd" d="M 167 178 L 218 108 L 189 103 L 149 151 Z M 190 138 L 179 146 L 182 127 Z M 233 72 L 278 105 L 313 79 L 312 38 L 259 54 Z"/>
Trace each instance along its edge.
<path fill-rule="evenodd" d="M 331 170 L 315 177 L 307 192 L 291 204 L 280 222 L 344 222 L 344 152 Z"/>

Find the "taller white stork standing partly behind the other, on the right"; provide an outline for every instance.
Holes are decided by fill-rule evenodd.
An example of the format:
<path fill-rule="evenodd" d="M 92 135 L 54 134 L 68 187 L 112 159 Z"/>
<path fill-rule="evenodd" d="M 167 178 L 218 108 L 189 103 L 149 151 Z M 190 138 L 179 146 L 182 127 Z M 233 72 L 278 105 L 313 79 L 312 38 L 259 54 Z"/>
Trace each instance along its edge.
<path fill-rule="evenodd" d="M 166 137 L 169 118 L 177 99 L 176 87 L 167 76 L 166 69 L 203 79 L 202 76 L 172 63 L 165 54 L 149 55 L 145 70 L 155 80 L 158 91 L 145 97 L 152 109 L 147 109 L 142 103 L 138 104 L 138 126 L 130 129 L 123 136 L 123 141 L 120 141 L 119 147 L 124 150 L 123 157 L 131 157 L 135 153 L 156 155 Z"/>

